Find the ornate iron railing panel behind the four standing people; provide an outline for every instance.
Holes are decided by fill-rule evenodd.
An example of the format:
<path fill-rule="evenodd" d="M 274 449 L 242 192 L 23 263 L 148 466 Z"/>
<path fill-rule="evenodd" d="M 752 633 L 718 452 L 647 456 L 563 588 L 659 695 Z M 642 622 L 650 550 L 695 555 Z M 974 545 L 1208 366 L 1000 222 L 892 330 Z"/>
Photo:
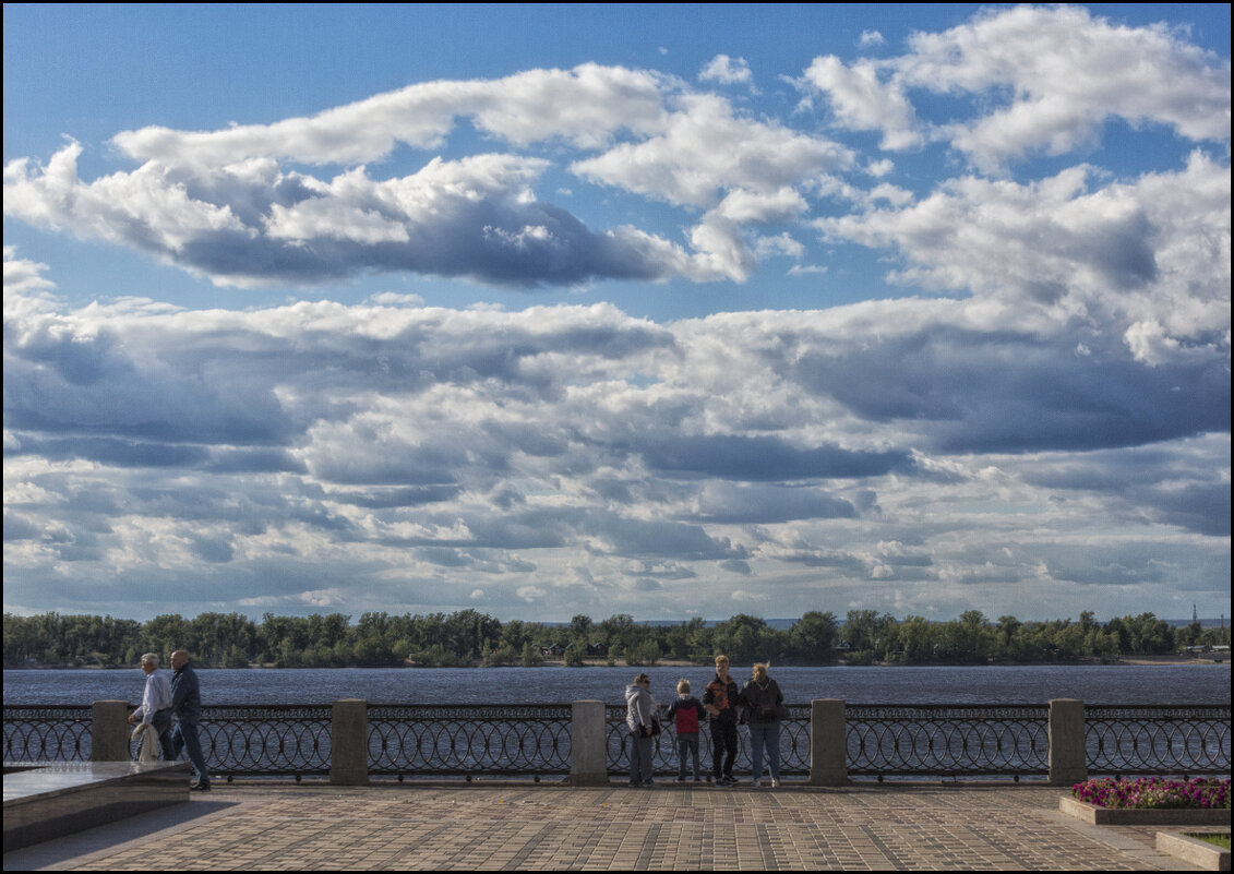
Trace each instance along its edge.
<path fill-rule="evenodd" d="M 780 720 L 780 774 L 785 776 L 805 776 L 810 774 L 810 705 L 786 705 L 789 716 Z M 663 720 L 664 731 L 653 741 L 652 762 L 655 774 L 670 775 L 679 773 L 676 731 L 671 722 Z M 605 705 L 605 723 L 608 743 L 608 773 L 629 773 L 629 727 L 626 725 L 626 705 Z M 698 732 L 698 763 L 705 776 L 712 773 L 711 730 L 705 725 Z M 768 772 L 768 758 L 764 753 L 763 769 Z M 734 773 L 753 770 L 750 760 L 749 735 L 737 733 L 737 758 L 733 762 Z M 692 773 L 692 763 L 687 768 Z"/>

